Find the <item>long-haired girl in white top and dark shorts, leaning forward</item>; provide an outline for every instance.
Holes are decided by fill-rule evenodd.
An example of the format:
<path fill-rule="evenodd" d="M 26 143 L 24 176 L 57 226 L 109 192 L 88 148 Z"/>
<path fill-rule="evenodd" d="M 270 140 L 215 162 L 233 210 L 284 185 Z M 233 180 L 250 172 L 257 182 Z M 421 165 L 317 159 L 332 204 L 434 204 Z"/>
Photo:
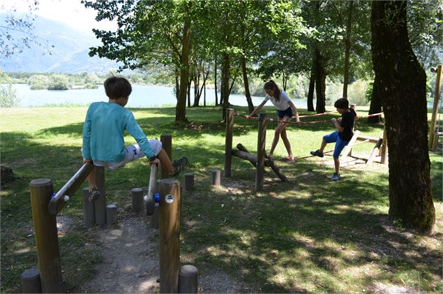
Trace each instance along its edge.
<path fill-rule="evenodd" d="M 290 98 L 287 96 L 286 92 L 278 89 L 277 84 L 273 80 L 269 80 L 269 82 L 266 82 L 266 84 L 264 84 L 264 91 L 266 92 L 266 97 L 264 98 L 264 101 L 260 103 L 260 105 L 258 105 L 257 108 L 255 108 L 255 110 L 250 113 L 250 115 L 246 115 L 246 118 L 255 115 L 255 113 L 259 112 L 266 104 L 266 102 L 270 100 L 271 103 L 274 106 L 276 106 L 277 117 L 281 122 L 278 124 L 276 132 L 273 135 L 271 150 L 269 150 L 269 156 L 270 157 L 272 156 L 273 151 L 274 149 L 276 149 L 278 140 L 281 136 L 288 154 L 288 156 L 283 157 L 282 160 L 294 161 L 294 155 L 292 154 L 291 144 L 290 141 L 287 140 L 286 125 L 287 122 L 289 122 L 292 119 L 294 113 L 295 113 L 296 122 L 300 122 L 299 112 L 297 112 L 294 103 L 292 103 Z"/>

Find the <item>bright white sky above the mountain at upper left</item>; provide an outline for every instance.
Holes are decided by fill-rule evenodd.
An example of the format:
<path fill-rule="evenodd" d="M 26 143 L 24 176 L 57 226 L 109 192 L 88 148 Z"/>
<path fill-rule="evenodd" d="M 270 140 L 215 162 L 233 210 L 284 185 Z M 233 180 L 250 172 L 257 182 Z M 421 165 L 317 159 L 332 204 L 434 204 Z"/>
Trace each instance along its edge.
<path fill-rule="evenodd" d="M 33 0 L 2 0 L 3 9 L 16 8 L 17 11 L 29 13 L 29 5 Z M 112 29 L 112 22 L 95 20 L 96 11 L 92 8 L 85 8 L 81 0 L 38 0 L 38 9 L 34 14 L 45 17 L 49 20 L 56 20 L 68 24 L 70 27 L 82 31 L 91 29 Z"/>

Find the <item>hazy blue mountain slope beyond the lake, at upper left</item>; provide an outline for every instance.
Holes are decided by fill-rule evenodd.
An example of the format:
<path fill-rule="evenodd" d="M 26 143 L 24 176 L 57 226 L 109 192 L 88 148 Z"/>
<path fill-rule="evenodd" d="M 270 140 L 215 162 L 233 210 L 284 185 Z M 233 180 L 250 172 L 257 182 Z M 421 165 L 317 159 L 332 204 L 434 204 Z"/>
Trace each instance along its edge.
<path fill-rule="evenodd" d="M 4 23 L 4 14 L 0 14 L 0 23 Z M 81 21 L 81 20 L 79 20 Z M 32 44 L 22 53 L 1 57 L 0 67 L 6 72 L 27 73 L 107 73 L 119 66 L 115 61 L 89 57 L 89 47 L 100 45 L 93 33 L 78 31 L 73 27 L 37 17 L 33 24 L 33 33 L 54 47 Z M 10 31 L 10 34 L 17 34 Z M 20 37 L 17 35 L 17 40 Z M 48 54 L 49 50 L 52 54 Z"/>

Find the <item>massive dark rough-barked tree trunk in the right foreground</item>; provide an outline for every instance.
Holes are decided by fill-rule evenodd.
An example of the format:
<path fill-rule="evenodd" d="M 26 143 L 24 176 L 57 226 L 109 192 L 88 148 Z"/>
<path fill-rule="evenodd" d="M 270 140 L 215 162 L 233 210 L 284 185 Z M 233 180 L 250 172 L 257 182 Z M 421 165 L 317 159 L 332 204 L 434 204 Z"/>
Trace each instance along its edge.
<path fill-rule="evenodd" d="M 426 73 L 407 35 L 407 1 L 373 1 L 372 57 L 389 142 L 389 216 L 423 233 L 435 223 Z"/>

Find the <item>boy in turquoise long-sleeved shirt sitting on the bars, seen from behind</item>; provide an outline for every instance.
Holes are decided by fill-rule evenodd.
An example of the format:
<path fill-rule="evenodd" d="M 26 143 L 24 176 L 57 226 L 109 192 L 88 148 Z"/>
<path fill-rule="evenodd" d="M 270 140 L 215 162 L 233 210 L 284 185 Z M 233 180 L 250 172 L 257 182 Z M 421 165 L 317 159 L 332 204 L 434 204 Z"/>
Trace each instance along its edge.
<path fill-rule="evenodd" d="M 91 103 L 84 121 L 83 162 L 114 169 L 147 156 L 150 165 L 163 166 L 171 177 L 179 175 L 188 166 L 188 159 L 182 156 L 171 162 L 161 142 L 148 140 L 133 113 L 125 108 L 132 91 L 130 82 L 123 77 L 112 77 L 105 80 L 104 86 L 109 101 Z M 135 138 L 137 144 L 125 147 L 125 130 Z M 96 200 L 100 192 L 93 171 L 88 176 L 88 182 L 89 200 Z"/>

